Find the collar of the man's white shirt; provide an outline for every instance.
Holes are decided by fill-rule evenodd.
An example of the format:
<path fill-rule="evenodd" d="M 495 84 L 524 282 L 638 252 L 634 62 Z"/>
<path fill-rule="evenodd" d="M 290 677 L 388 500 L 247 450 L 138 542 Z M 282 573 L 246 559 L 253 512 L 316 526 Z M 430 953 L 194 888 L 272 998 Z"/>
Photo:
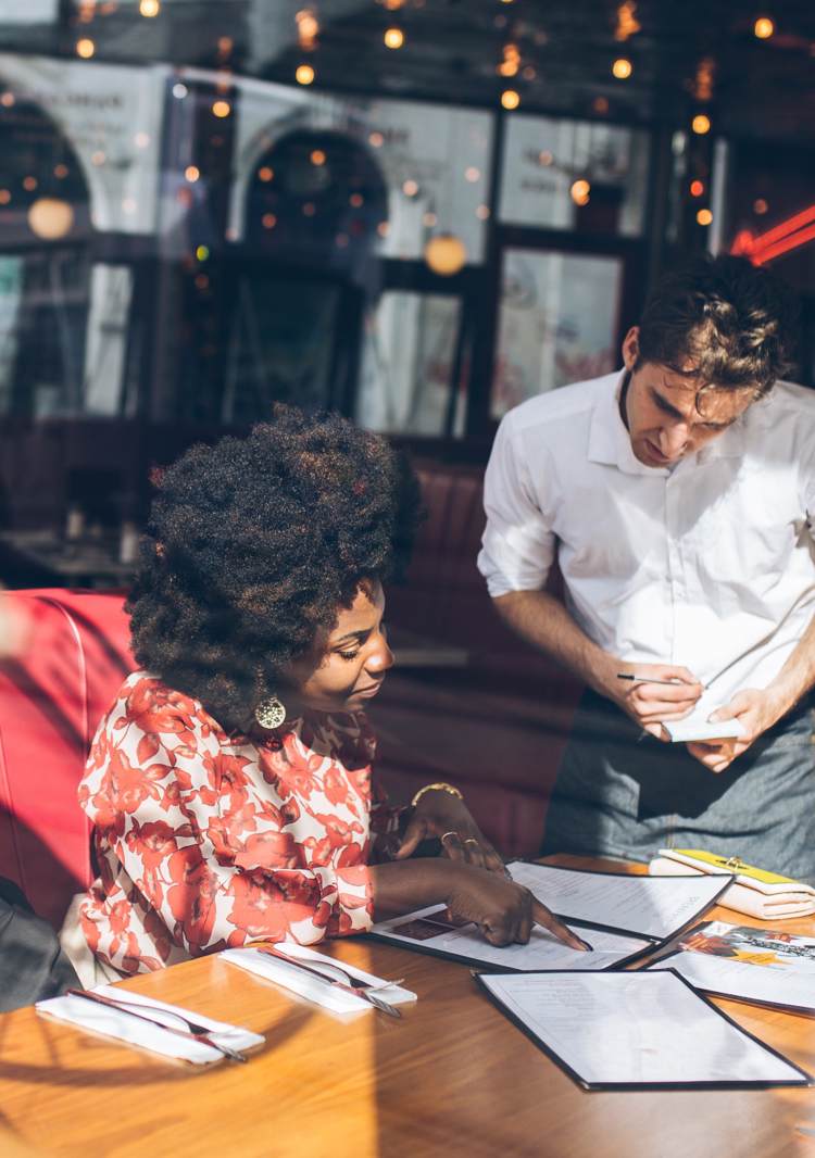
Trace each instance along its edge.
<path fill-rule="evenodd" d="M 609 375 L 609 386 L 594 408 L 588 435 L 588 461 L 617 467 L 625 475 L 666 476 L 666 467 L 646 467 L 631 449 L 631 438 L 619 412 L 619 398 L 629 381 L 629 371 L 622 369 L 617 378 Z M 754 403 L 755 405 L 755 403 Z M 726 431 L 691 455 L 684 462 L 704 463 L 713 459 L 737 459 L 744 454 L 744 423 L 749 409 Z"/>

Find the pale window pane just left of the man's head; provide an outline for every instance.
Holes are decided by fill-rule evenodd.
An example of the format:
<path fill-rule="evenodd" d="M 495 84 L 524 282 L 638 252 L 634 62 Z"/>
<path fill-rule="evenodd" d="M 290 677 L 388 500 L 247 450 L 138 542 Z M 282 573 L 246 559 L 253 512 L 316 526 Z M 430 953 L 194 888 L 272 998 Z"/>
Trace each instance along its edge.
<path fill-rule="evenodd" d="M 536 394 L 615 368 L 619 258 L 507 249 L 501 272 L 493 418 Z"/>

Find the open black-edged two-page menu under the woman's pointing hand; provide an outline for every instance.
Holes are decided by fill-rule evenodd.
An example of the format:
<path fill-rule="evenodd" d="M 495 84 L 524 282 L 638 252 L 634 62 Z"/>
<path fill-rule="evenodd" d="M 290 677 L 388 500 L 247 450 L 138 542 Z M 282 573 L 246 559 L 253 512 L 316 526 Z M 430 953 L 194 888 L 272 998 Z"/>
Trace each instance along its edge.
<path fill-rule="evenodd" d="M 381 921 L 372 933 L 423 953 L 511 972 L 610 969 L 652 953 L 698 918 L 730 877 L 630 877 L 513 862 L 524 885 L 592 946 L 581 953 L 536 925 L 527 945 L 497 947 L 473 924 L 453 924 L 443 904 Z"/>

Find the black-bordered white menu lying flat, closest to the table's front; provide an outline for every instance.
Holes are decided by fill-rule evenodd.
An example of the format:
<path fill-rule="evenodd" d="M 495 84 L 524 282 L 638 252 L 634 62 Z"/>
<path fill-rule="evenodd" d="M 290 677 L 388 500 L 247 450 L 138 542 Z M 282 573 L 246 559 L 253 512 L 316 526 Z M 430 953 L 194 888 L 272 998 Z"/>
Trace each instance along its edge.
<path fill-rule="evenodd" d="M 480 982 L 588 1087 L 809 1082 L 670 972 L 514 973 Z"/>

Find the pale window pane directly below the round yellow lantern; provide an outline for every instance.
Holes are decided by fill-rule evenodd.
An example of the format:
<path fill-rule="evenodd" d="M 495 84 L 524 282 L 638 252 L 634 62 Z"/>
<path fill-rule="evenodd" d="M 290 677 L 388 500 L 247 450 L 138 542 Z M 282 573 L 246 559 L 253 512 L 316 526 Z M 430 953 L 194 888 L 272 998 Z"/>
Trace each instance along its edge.
<path fill-rule="evenodd" d="M 368 430 L 461 438 L 460 325 L 457 298 L 384 293 L 367 318 L 357 422 Z"/>

